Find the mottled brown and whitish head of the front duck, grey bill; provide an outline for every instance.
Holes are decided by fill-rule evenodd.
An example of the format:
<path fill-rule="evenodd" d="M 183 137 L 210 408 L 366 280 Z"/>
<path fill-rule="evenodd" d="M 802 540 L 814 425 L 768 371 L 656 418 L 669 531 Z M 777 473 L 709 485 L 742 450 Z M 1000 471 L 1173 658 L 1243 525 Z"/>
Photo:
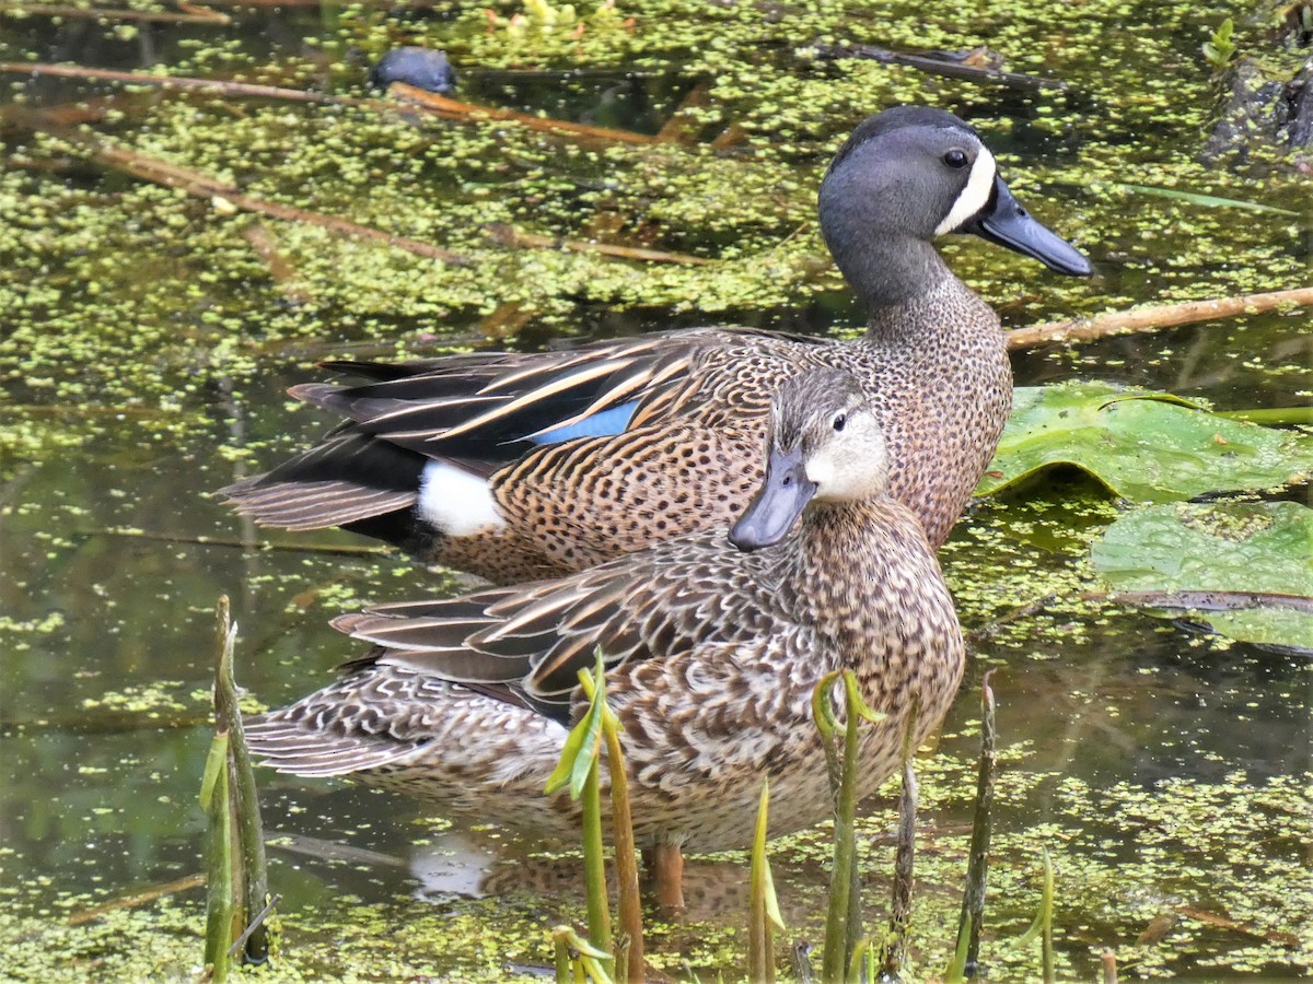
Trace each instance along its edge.
<path fill-rule="evenodd" d="M 885 436 L 857 380 L 839 369 L 790 377 L 771 403 L 765 478 L 730 530 L 742 551 L 779 543 L 810 502 L 876 499 L 889 483 Z"/>

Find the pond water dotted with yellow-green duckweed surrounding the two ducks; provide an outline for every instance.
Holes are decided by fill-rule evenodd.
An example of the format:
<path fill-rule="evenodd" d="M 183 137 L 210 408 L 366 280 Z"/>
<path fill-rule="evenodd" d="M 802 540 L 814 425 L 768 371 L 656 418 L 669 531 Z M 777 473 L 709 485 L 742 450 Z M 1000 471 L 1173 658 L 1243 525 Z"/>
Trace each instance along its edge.
<path fill-rule="evenodd" d="M 234 24 L 0 21 L 0 59 L 165 64 L 364 96 L 361 66 L 418 41 L 452 52 L 462 98 L 645 134 L 700 83 L 706 94 L 685 109 L 689 142 L 617 147 L 368 108 L 125 96 L 21 75 L 4 83 L 13 105 L 89 100 L 95 133 L 117 146 L 475 260 L 449 266 L 242 214 L 222 195 L 106 171 L 67 136 L 4 118 L 4 979 L 197 971 L 200 888 L 76 925 L 70 917 L 200 871 L 221 594 L 240 627 L 239 682 L 273 706 L 355 655 L 328 618 L 469 584 L 344 534 L 255 530 L 209 495 L 327 428 L 284 394 L 320 378 L 315 359 L 532 349 L 709 321 L 851 332 L 860 312 L 823 258 L 814 188 L 852 125 L 901 100 L 970 118 L 1019 197 L 1096 262 L 1091 281 L 1060 282 L 985 244 L 947 244 L 1010 327 L 1313 281 L 1313 178 L 1289 161 L 1211 171 L 1195 160 L 1215 92 L 1199 45 L 1220 12 L 1205 22 L 1165 4 L 982 3 L 949 16 L 909 4 L 620 3 L 633 25 L 588 14 L 578 37 L 525 41 L 456 5 L 222 9 Z M 1249 8 L 1232 13 L 1243 43 L 1263 43 Z M 825 63 L 801 50 L 815 38 L 918 51 L 987 45 L 1012 71 L 1070 88 Z M 731 127 L 742 139 L 713 147 Z M 717 262 L 506 249 L 487 239 L 491 222 Z M 1102 379 L 1221 409 L 1291 407 L 1313 390 L 1309 324 L 1299 311 L 1250 316 L 1022 353 L 1014 369 L 1027 386 Z M 1283 495 L 1305 501 L 1308 485 Z M 1104 949 L 1128 976 L 1313 972 L 1313 663 L 1083 600 L 1099 586 L 1088 543 L 1128 508 L 1075 472 L 1052 474 L 979 501 L 944 548 L 964 626 L 979 642 L 943 737 L 920 762 L 915 976 L 941 974 L 951 949 L 979 681 L 991 666 L 1004 768 L 987 976 L 1037 972 L 1033 947 L 1016 939 L 1039 904 L 1043 849 L 1057 870 L 1064 979 L 1091 979 Z M 260 781 L 277 838 L 270 883 L 282 896 L 276 979 L 502 979 L 545 964 L 546 930 L 582 918 L 569 851 L 492 825 L 452 828 L 390 794 Z M 888 907 L 894 795 L 863 808 L 876 925 Z M 785 945 L 819 935 L 826 832 L 780 841 L 772 857 L 788 924 L 783 964 Z M 653 925 L 653 963 L 681 979 L 733 979 L 744 966 L 746 859 L 693 859 L 688 883 L 689 921 Z"/>

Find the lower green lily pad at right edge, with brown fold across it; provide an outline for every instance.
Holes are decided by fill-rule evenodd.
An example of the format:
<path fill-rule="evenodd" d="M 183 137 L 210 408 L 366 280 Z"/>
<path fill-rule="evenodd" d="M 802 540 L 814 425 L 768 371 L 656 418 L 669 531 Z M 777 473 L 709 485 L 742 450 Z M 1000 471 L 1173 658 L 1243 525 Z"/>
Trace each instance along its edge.
<path fill-rule="evenodd" d="M 1094 568 L 1124 601 L 1199 613 L 1242 642 L 1313 652 L 1313 509 L 1158 505 L 1108 527 Z"/>

